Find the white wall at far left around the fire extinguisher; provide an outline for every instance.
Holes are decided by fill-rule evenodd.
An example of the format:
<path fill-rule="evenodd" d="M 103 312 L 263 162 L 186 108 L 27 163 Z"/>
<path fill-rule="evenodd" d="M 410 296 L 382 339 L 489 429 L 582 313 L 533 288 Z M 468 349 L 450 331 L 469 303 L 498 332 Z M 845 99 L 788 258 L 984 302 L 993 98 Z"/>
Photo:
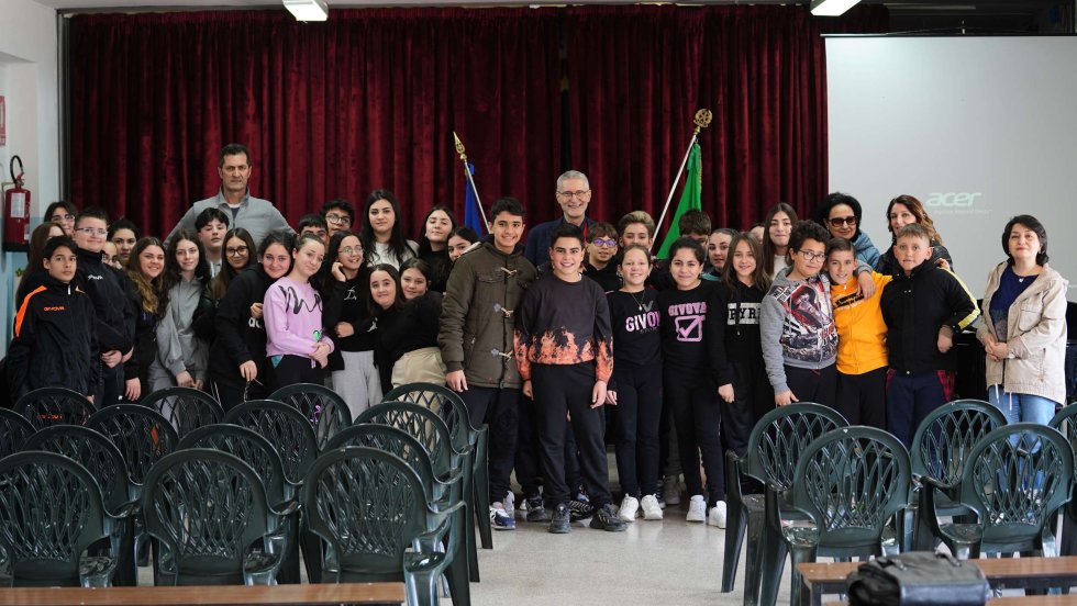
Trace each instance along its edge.
<path fill-rule="evenodd" d="M 36 225 L 59 199 L 59 88 L 56 11 L 31 0 L 0 3 L 0 96 L 8 106 L 8 143 L 0 147 L 0 181 L 9 181 L 12 155 L 22 158 Z M 15 270 L 22 252 L 0 255 L 0 355 L 7 351 L 14 316 Z"/>

